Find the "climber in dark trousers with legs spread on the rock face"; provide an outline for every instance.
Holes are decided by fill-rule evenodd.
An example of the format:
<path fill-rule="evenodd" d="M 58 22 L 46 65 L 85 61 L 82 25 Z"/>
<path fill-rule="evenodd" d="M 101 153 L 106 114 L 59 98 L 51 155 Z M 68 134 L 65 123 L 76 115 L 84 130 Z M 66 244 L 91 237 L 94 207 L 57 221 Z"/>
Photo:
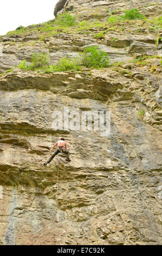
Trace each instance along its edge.
<path fill-rule="evenodd" d="M 69 156 L 70 156 L 70 152 L 68 151 L 69 149 L 67 149 L 66 147 L 66 142 L 64 138 L 61 138 L 57 143 L 55 143 L 51 149 L 51 151 L 55 148 L 55 146 L 58 146 L 57 150 L 55 151 L 55 153 L 48 159 L 48 161 L 46 163 L 43 163 L 44 166 L 47 165 L 47 163 L 50 163 L 52 161 L 52 159 L 59 153 L 64 153 L 66 154 L 66 161 L 71 161 Z"/>

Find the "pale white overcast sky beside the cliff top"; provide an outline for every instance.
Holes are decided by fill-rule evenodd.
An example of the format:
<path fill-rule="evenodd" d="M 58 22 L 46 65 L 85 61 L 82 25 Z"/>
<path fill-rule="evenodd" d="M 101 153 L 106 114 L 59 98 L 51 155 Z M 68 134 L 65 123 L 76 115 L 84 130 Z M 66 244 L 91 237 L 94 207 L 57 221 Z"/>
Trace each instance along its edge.
<path fill-rule="evenodd" d="M 54 7 L 59 0 L 1 0 L 0 35 L 54 19 Z"/>

